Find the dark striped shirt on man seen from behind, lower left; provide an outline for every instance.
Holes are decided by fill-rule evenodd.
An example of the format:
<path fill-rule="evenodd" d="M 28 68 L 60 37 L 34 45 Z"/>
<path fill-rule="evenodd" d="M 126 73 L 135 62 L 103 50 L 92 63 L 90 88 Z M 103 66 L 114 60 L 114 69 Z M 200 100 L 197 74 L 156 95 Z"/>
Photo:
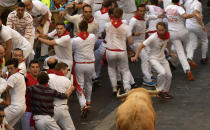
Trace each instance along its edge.
<path fill-rule="evenodd" d="M 31 94 L 31 111 L 34 115 L 54 115 L 54 97 L 66 99 L 64 93 L 57 92 L 47 86 L 36 85 L 27 88 Z"/>

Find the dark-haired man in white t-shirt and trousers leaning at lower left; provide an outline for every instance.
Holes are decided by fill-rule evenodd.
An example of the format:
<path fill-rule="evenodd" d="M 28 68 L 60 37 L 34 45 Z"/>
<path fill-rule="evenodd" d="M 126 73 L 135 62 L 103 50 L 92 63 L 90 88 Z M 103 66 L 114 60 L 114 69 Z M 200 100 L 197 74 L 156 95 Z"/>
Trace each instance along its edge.
<path fill-rule="evenodd" d="M 6 121 L 14 127 L 26 110 L 26 84 L 24 76 L 18 72 L 17 59 L 9 59 L 6 66 L 10 75 L 7 80 L 7 90 L 10 93 L 11 104 L 4 111 Z"/>

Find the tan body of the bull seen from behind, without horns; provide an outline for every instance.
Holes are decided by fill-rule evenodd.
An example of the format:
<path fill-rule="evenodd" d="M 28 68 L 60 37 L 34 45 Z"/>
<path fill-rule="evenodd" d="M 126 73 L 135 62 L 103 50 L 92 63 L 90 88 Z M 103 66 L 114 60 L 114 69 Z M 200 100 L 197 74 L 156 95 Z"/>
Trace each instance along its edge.
<path fill-rule="evenodd" d="M 156 114 L 150 94 L 144 88 L 128 93 L 117 110 L 117 130 L 155 130 Z"/>

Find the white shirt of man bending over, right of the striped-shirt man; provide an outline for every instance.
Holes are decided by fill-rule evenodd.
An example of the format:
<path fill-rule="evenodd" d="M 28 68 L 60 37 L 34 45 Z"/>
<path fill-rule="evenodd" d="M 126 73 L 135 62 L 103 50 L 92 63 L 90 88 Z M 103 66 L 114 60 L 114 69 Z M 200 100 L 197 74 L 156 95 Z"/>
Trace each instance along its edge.
<path fill-rule="evenodd" d="M 33 8 L 29 12 L 29 14 L 33 17 L 34 19 L 34 26 L 37 27 L 42 19 L 42 16 L 44 16 L 47 12 L 49 14 L 49 20 L 51 18 L 51 12 L 49 8 L 43 4 L 41 1 L 32 1 L 33 3 Z"/>

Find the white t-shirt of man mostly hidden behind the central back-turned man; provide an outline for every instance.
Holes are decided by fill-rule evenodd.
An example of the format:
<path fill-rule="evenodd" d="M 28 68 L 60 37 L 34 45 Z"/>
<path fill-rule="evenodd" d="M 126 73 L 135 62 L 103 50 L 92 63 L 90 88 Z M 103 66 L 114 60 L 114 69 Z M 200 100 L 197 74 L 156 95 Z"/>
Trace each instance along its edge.
<path fill-rule="evenodd" d="M 99 10 L 95 12 L 94 18 L 99 24 L 98 36 L 101 37 L 102 35 L 101 33 L 104 32 L 105 24 L 109 21 L 109 14 L 108 13 L 102 14 L 101 11 Z"/>

